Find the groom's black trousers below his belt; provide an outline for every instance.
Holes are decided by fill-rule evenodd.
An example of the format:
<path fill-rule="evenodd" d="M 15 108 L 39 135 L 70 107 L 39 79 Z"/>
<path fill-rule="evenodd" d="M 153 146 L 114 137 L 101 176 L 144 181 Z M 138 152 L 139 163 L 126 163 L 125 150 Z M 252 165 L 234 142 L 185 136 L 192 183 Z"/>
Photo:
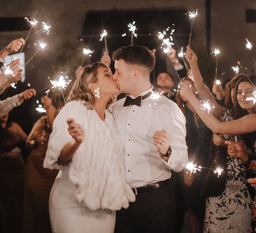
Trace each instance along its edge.
<path fill-rule="evenodd" d="M 116 211 L 115 233 L 172 233 L 175 196 L 171 183 L 136 195 L 129 208 Z"/>

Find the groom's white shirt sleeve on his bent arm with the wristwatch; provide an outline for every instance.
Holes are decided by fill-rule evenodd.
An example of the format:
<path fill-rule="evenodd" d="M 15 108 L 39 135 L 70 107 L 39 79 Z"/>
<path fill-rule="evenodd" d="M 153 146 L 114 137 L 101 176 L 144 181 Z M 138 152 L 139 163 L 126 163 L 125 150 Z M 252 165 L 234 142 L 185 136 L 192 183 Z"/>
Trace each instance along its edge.
<path fill-rule="evenodd" d="M 166 162 L 160 155 L 165 165 L 172 171 L 179 172 L 184 169 L 183 164 L 188 162 L 186 145 L 186 119 L 181 111 L 171 114 L 165 121 L 165 131 L 170 135 L 172 154 Z"/>

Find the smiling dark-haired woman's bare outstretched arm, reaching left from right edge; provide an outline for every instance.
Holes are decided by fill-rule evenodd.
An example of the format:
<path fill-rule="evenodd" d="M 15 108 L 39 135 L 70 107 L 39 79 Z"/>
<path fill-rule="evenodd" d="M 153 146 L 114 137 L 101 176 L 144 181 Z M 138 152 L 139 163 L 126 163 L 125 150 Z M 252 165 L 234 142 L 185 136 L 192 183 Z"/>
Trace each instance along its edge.
<path fill-rule="evenodd" d="M 180 84 L 181 95 L 188 98 L 201 120 L 214 133 L 222 134 L 245 134 L 256 131 L 256 114 L 250 114 L 237 120 L 221 122 L 216 117 L 208 114 L 207 111 L 201 109 L 200 101 L 194 96 L 191 88 L 185 84 Z"/>

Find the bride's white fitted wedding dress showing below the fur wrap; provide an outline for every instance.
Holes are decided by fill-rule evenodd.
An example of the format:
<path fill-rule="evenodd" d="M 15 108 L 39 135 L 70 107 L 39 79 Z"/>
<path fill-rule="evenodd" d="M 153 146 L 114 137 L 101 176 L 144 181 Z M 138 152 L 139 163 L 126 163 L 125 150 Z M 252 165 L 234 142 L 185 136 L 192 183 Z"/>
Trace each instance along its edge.
<path fill-rule="evenodd" d="M 115 211 L 99 209 L 91 211 L 76 205 L 75 185 L 68 179 L 69 166 L 56 177 L 49 199 L 49 213 L 54 233 L 113 233 Z"/>

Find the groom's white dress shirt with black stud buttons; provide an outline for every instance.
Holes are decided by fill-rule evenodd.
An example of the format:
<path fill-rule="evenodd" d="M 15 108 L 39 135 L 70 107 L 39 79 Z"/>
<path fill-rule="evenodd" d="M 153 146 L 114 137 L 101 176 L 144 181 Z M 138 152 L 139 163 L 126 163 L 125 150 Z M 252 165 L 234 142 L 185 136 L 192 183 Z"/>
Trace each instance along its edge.
<path fill-rule="evenodd" d="M 149 92 L 150 89 L 139 96 Z M 125 98 L 113 104 L 114 119 L 123 139 L 126 180 L 131 187 L 166 180 L 171 177 L 171 170 L 179 172 L 184 168 L 182 164 L 187 163 L 185 117 L 176 103 L 161 97 L 157 105 L 150 97 L 142 100 L 140 107 L 123 107 Z M 156 130 L 165 130 L 170 135 L 172 154 L 168 162 L 154 145 L 152 136 Z"/>

